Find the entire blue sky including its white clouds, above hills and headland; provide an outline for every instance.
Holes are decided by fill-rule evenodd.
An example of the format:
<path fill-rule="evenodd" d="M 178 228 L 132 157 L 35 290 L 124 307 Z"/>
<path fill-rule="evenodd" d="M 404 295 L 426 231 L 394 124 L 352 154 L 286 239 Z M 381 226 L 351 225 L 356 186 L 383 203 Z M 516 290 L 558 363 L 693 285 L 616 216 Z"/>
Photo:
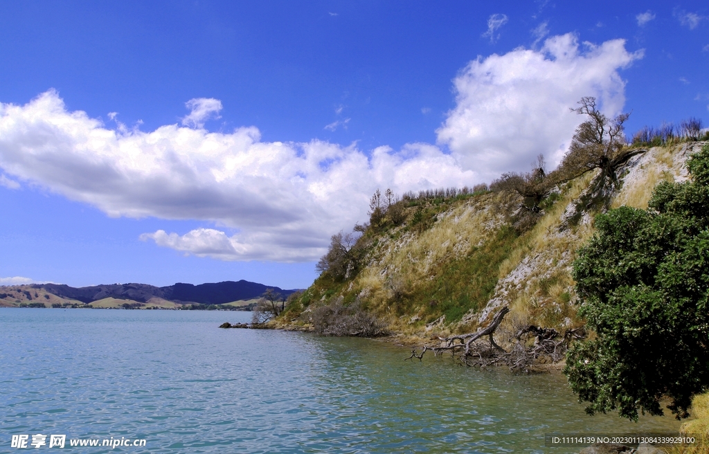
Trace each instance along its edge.
<path fill-rule="evenodd" d="M 0 4 L 0 284 L 306 287 L 376 188 L 709 123 L 700 1 Z"/>

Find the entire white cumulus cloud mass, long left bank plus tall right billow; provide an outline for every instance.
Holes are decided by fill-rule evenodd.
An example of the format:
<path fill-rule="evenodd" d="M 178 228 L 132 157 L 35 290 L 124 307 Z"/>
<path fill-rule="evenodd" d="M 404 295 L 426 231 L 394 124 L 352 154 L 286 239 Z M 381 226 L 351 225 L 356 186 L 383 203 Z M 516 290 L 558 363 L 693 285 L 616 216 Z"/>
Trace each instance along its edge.
<path fill-rule="evenodd" d="M 528 170 L 539 153 L 558 161 L 582 120 L 569 107 L 596 96 L 605 113 L 620 111 L 618 69 L 641 55 L 623 40 L 579 45 L 563 35 L 540 50 L 479 57 L 454 79 L 457 106 L 437 130 L 449 149 L 413 143 L 365 152 L 320 140 L 263 142 L 257 127 L 209 132 L 203 122 L 221 103 L 208 98 L 188 103 L 182 125 L 111 128 L 47 91 L 24 106 L 0 103 L 0 176 L 4 186 L 26 182 L 113 217 L 204 222 L 141 236 L 184 254 L 313 261 L 330 235 L 367 220 L 377 188 L 471 186 Z"/>

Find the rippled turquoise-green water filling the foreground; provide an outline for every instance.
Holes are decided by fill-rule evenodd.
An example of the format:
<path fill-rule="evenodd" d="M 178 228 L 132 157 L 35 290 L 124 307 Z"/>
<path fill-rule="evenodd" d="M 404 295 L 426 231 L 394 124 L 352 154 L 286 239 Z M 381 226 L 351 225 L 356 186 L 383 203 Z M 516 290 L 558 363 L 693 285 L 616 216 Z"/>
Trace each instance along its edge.
<path fill-rule="evenodd" d="M 679 426 L 586 416 L 561 375 L 405 362 L 408 350 L 367 339 L 217 328 L 249 317 L 0 310 L 0 453 L 23 452 L 11 436 L 35 433 L 147 440 L 67 441 L 72 453 L 577 453 L 545 448 L 544 434 Z"/>

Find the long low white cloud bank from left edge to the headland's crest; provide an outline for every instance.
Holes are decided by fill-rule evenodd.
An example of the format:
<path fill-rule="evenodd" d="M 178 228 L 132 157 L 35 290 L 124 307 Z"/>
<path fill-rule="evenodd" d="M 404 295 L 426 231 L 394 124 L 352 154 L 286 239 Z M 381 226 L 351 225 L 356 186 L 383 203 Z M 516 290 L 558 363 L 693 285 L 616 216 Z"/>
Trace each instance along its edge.
<path fill-rule="evenodd" d="M 380 147 L 368 156 L 354 144 L 262 142 L 256 127 L 121 132 L 66 110 L 55 91 L 24 106 L 0 104 L 0 168 L 114 217 L 235 229 L 230 237 L 215 229 L 143 237 L 233 260 L 318 259 L 330 235 L 367 220 L 376 188 L 401 194 L 481 181 L 428 144 Z"/>

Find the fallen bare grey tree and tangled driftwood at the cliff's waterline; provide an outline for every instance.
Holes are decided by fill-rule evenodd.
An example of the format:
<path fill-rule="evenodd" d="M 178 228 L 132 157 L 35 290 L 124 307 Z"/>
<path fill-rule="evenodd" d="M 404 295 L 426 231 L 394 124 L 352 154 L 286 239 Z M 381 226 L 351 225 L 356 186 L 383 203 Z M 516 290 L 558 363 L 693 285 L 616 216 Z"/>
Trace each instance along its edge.
<path fill-rule="evenodd" d="M 475 333 L 460 334 L 445 339 L 440 338 L 442 345 L 424 346 L 420 352 L 414 349 L 411 351 L 411 356 L 404 361 L 413 358 L 417 358 L 420 361 L 427 351 L 432 351 L 434 356 L 450 351 L 454 358 L 457 358 L 464 365 L 486 367 L 505 364 L 513 370 L 529 371 L 530 366 L 540 362 L 554 363 L 560 361 L 564 358 L 569 343 L 573 339 L 581 339 L 586 335 L 584 328 L 567 329 L 564 336 L 561 336 L 556 329 L 527 325 L 520 329 L 513 338 L 509 339 L 510 342 L 514 342 L 514 345 L 510 351 L 506 351 L 496 344 L 493 334 L 495 334 L 496 329 L 498 329 L 508 312 L 510 312 L 508 307 L 503 307 L 486 328 Z M 535 340 L 532 346 L 527 346 L 531 341 L 530 334 L 535 337 Z M 484 336 L 489 338 L 489 347 L 475 343 L 475 341 Z"/>

